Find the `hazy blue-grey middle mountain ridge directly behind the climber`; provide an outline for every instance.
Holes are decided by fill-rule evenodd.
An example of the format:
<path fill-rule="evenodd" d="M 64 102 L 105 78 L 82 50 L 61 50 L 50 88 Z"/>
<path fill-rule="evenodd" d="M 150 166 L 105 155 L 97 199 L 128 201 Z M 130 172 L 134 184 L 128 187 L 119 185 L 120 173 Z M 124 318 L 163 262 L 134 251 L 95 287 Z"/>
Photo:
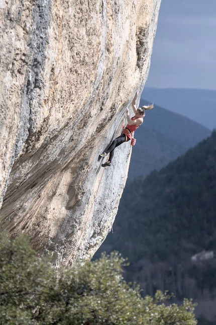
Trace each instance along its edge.
<path fill-rule="evenodd" d="M 141 99 L 140 106 L 147 104 Z M 135 132 L 137 142 L 128 177 L 146 176 L 154 169 L 160 170 L 209 135 L 210 130 L 203 125 L 154 104 Z"/>

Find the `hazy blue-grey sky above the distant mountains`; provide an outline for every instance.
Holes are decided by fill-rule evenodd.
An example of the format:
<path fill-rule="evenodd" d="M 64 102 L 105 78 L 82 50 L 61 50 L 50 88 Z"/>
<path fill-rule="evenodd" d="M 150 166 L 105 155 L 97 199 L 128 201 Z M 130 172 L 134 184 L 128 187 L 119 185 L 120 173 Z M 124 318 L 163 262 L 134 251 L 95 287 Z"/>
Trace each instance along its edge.
<path fill-rule="evenodd" d="M 216 90 L 216 0 L 162 0 L 146 87 Z"/>

